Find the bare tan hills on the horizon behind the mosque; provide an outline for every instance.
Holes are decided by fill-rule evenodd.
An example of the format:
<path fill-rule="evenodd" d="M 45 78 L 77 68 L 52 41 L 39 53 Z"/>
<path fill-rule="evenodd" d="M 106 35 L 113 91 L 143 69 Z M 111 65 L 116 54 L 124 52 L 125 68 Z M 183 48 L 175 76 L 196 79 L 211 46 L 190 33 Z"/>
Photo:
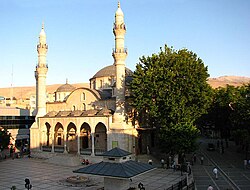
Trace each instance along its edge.
<path fill-rule="evenodd" d="M 212 88 L 225 87 L 226 85 L 232 86 L 242 86 L 243 84 L 250 83 L 249 77 L 240 77 L 240 76 L 222 76 L 218 78 L 209 78 L 208 84 L 212 86 Z M 53 84 L 47 85 L 47 92 L 54 93 L 56 89 L 63 84 Z M 76 83 L 71 84 L 77 88 L 79 87 L 89 87 L 89 83 Z M 35 86 L 24 86 L 24 87 L 13 87 L 13 88 L 0 88 L 0 96 L 4 97 L 13 97 L 17 99 L 26 99 L 31 95 L 36 93 Z"/>

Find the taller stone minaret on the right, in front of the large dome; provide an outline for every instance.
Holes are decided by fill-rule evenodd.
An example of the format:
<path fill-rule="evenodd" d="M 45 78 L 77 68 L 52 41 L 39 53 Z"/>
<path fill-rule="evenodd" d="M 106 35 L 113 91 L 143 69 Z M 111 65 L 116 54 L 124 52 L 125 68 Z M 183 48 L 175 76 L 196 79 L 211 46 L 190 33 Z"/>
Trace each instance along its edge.
<path fill-rule="evenodd" d="M 115 13 L 113 33 L 115 35 L 115 48 L 112 56 L 114 58 L 114 65 L 116 68 L 116 110 L 113 122 L 122 123 L 125 121 L 125 59 L 127 57 L 127 50 L 124 48 L 126 27 L 120 2 L 118 2 L 118 9 Z"/>

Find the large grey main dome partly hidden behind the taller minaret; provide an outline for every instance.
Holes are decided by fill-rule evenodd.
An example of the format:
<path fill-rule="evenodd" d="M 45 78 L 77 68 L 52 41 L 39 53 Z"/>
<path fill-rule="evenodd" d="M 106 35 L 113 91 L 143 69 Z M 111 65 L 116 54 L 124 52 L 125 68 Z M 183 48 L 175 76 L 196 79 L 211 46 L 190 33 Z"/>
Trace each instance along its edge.
<path fill-rule="evenodd" d="M 126 68 L 125 75 L 132 76 L 133 72 L 130 69 Z M 115 77 L 115 65 L 110 65 L 110 66 L 102 68 L 92 78 L 112 77 L 112 76 Z"/>

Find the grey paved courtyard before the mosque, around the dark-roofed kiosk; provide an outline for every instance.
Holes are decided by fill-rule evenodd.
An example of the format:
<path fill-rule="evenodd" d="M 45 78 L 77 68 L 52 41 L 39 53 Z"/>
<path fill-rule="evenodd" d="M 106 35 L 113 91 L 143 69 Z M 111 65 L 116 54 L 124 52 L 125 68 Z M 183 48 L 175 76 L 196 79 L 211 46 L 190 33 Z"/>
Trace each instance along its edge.
<path fill-rule="evenodd" d="M 78 186 L 66 182 L 66 178 L 75 176 L 72 171 L 82 166 L 60 166 L 47 163 L 46 160 L 34 158 L 7 159 L 0 162 L 0 190 L 11 189 L 25 190 L 25 178 L 29 178 L 32 190 L 66 190 L 87 189 L 98 190 L 103 187 L 103 178 L 88 176 L 89 182 Z M 86 175 L 81 175 L 86 176 Z M 130 187 L 137 187 L 139 182 L 147 190 L 164 189 L 178 183 L 183 176 L 179 171 L 171 169 L 155 169 L 151 172 L 132 178 Z"/>

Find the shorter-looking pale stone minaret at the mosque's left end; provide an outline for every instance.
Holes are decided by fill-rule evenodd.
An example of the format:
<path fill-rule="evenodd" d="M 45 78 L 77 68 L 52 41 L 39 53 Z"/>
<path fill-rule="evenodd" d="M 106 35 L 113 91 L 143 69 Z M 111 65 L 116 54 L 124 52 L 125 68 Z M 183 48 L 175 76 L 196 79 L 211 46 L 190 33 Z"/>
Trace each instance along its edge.
<path fill-rule="evenodd" d="M 46 54 L 48 45 L 46 44 L 46 34 L 44 24 L 39 34 L 39 43 L 37 44 L 38 64 L 35 70 L 36 77 L 36 117 L 46 114 L 46 76 L 48 65 L 46 64 Z"/>

